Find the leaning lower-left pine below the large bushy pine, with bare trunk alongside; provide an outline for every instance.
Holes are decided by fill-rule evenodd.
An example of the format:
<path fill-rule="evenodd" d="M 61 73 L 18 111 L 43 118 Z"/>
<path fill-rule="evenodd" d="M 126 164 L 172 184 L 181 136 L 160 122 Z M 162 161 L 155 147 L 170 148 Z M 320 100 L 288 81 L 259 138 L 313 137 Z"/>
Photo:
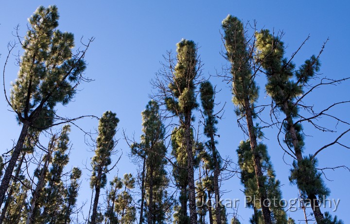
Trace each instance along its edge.
<path fill-rule="evenodd" d="M 62 177 L 69 162 L 69 132 L 70 126 L 65 125 L 59 134 L 53 134 L 43 167 L 35 170 L 38 181 L 26 223 L 63 223 L 62 210 L 68 193 Z"/>

